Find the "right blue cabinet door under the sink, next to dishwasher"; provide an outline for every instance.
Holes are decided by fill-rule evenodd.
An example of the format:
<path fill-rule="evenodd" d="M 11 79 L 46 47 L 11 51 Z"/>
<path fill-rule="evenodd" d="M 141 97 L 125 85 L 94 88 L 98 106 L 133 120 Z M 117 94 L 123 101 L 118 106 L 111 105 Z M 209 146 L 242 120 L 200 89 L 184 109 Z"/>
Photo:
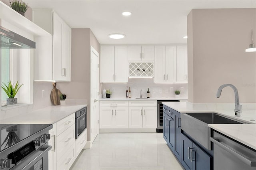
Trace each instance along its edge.
<path fill-rule="evenodd" d="M 212 156 L 208 155 L 204 150 L 193 144 L 192 152 L 193 169 L 194 170 L 210 170 L 212 164 Z M 195 160 L 195 161 L 194 161 Z"/>

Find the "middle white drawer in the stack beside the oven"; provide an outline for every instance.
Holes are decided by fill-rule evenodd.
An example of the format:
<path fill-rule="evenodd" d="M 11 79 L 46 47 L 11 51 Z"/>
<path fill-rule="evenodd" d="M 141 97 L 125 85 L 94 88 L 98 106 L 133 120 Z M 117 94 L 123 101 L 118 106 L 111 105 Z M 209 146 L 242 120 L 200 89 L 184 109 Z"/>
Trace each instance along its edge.
<path fill-rule="evenodd" d="M 75 144 L 75 124 L 56 137 L 57 160 L 66 152 L 66 148 Z"/>

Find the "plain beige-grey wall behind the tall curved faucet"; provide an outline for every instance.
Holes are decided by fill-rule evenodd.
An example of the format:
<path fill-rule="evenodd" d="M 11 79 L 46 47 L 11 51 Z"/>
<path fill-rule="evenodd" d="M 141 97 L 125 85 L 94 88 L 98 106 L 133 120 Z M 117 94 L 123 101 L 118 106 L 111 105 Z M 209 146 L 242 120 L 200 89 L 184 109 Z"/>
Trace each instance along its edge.
<path fill-rule="evenodd" d="M 231 83 L 241 103 L 256 103 L 256 53 L 246 53 L 251 26 L 256 33 L 256 9 L 196 9 L 188 15 L 188 101 L 234 103 L 234 91 L 218 87 Z M 252 24 L 251 24 L 252 23 Z M 254 34 L 256 40 L 256 34 Z"/>

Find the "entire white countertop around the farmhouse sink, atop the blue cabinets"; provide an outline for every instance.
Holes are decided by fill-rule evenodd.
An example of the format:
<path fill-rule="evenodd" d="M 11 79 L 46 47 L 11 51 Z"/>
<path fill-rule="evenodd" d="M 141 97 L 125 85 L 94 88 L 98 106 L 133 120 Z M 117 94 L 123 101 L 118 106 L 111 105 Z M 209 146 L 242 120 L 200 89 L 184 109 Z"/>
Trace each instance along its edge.
<path fill-rule="evenodd" d="M 163 103 L 180 113 L 211 113 L 215 112 L 232 119 L 250 124 L 212 124 L 208 125 L 234 140 L 237 140 L 253 149 L 256 149 L 256 104 L 242 103 L 243 112 L 240 117 L 234 113 L 234 103 Z M 251 121 L 255 120 L 255 121 Z"/>

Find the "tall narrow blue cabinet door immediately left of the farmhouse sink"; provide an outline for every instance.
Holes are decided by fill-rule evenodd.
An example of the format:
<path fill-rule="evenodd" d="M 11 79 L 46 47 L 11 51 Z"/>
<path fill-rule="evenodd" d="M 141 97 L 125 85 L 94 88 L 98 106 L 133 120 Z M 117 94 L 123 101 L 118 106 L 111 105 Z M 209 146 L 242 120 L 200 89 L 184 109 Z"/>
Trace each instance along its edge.
<path fill-rule="evenodd" d="M 175 136 L 174 136 L 174 154 L 181 162 L 181 119 L 180 113 L 175 112 Z"/>

